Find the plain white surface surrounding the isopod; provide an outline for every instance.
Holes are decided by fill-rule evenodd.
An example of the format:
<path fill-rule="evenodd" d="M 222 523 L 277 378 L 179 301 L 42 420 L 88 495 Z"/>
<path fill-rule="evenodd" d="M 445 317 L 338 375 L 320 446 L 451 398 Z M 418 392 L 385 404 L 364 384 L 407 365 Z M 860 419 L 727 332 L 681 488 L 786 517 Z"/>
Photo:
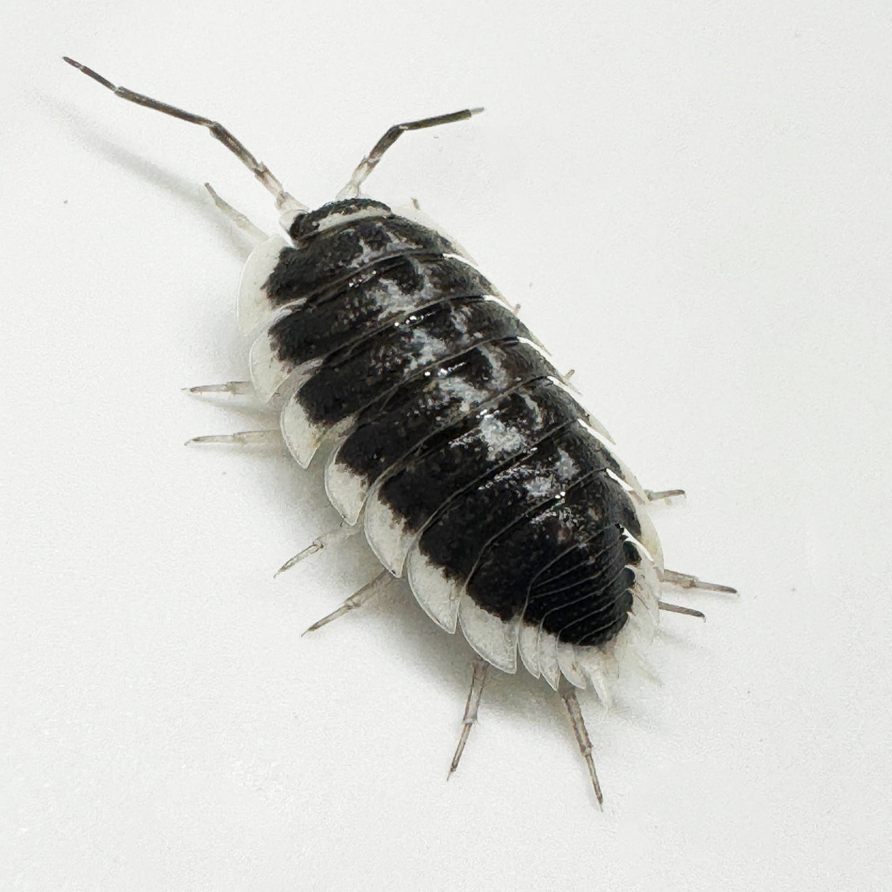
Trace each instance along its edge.
<path fill-rule="evenodd" d="M 880 889 L 892 869 L 892 12 L 871 3 L 25 3 L 0 12 L 4 889 Z M 668 566 L 737 585 L 664 616 L 662 683 L 487 688 L 375 572 L 244 377 L 245 256 L 202 190 L 415 196 L 566 368 L 645 485 Z M 883 880 L 883 877 L 886 880 Z"/>

